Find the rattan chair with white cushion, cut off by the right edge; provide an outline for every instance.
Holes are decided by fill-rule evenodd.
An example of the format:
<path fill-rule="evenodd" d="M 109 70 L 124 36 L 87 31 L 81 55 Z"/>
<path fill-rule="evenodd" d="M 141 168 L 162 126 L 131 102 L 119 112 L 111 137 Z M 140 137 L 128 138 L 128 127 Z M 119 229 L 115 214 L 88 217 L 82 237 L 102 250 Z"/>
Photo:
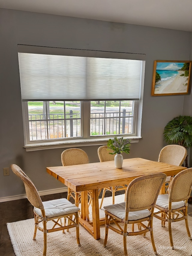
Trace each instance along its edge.
<path fill-rule="evenodd" d="M 189 168 L 178 173 L 170 183 L 168 194 L 158 195 L 156 201 L 155 208 L 159 209 L 159 211 L 154 212 L 153 216 L 161 220 L 162 227 L 165 226 L 165 222 L 168 222 L 170 245 L 172 249 L 174 249 L 171 229 L 172 222 L 185 220 L 188 237 L 190 240 L 192 239 L 187 221 L 187 201 L 190 197 L 191 189 L 192 168 Z M 161 216 L 158 214 L 161 214 Z"/>

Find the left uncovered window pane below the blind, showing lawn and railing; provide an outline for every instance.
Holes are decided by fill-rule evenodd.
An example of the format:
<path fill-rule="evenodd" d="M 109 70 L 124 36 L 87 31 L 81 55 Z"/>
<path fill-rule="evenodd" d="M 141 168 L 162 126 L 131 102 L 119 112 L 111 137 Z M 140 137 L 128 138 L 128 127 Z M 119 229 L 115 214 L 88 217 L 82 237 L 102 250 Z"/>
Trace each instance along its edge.
<path fill-rule="evenodd" d="M 80 101 L 28 101 L 30 141 L 81 136 Z"/>

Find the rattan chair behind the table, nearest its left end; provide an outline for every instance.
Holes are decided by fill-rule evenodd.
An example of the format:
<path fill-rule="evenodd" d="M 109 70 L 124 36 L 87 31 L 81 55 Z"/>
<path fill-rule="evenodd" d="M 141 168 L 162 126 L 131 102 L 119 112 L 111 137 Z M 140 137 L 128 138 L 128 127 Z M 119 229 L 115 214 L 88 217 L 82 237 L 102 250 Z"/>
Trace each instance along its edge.
<path fill-rule="evenodd" d="M 65 149 L 61 153 L 61 162 L 62 162 L 63 166 L 75 165 L 75 164 L 88 164 L 89 159 L 88 159 L 88 155 L 86 154 L 86 152 L 84 150 L 76 149 L 76 148 L 70 148 L 70 149 Z M 91 192 L 88 191 L 88 195 L 89 195 L 88 206 L 91 203 L 90 193 Z M 68 187 L 67 200 L 69 200 L 70 197 L 72 197 L 75 200 L 75 205 L 78 207 L 79 203 L 81 201 L 81 192 L 73 191 L 73 189 Z M 89 220 L 88 213 L 89 212 L 88 212 L 88 207 L 87 207 L 87 218 Z M 79 212 L 79 214 L 80 214 L 80 212 Z"/>

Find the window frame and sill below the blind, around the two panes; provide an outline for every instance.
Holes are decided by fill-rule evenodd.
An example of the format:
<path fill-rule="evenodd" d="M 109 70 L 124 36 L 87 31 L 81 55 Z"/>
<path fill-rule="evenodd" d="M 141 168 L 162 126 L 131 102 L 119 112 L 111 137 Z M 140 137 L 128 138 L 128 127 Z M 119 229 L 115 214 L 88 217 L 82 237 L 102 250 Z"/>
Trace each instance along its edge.
<path fill-rule="evenodd" d="M 91 101 L 81 101 L 81 137 L 68 137 L 68 138 L 56 138 L 47 140 L 31 140 L 29 134 L 29 112 L 28 102 L 22 102 L 23 108 L 23 126 L 24 126 L 24 138 L 26 151 L 35 151 L 42 149 L 53 148 L 65 148 L 65 147 L 77 147 L 77 146 L 93 146 L 104 145 L 107 141 L 114 136 L 124 137 L 131 139 L 131 143 L 138 142 L 141 138 L 137 135 L 137 116 L 138 116 L 139 101 L 134 101 L 134 118 L 133 118 L 133 134 L 117 134 L 117 135 L 90 135 L 90 113 L 91 113 Z M 84 136 L 84 137 L 83 137 Z"/>

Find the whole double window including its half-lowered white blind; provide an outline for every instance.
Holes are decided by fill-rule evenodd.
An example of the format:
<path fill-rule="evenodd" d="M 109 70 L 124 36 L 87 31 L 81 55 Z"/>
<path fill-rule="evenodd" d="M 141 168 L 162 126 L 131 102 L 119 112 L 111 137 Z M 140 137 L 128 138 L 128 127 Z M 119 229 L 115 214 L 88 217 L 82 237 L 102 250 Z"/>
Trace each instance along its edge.
<path fill-rule="evenodd" d="M 18 45 L 18 57 L 26 148 L 140 136 L 142 54 Z"/>

